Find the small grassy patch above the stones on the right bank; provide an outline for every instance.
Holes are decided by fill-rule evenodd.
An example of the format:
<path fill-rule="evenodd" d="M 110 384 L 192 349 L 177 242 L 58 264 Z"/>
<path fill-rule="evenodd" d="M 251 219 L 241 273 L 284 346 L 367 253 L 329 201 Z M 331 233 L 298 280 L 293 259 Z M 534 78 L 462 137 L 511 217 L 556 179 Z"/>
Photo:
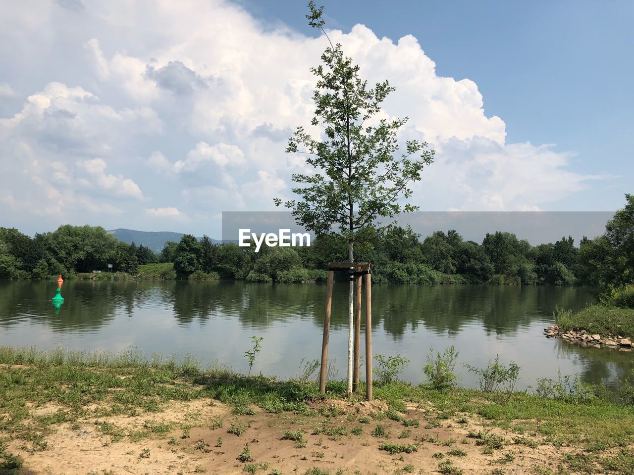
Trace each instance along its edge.
<path fill-rule="evenodd" d="M 634 310 L 631 308 L 590 305 L 579 312 L 562 310 L 555 312 L 557 325 L 564 331 L 585 330 L 601 336 L 634 336 Z"/>

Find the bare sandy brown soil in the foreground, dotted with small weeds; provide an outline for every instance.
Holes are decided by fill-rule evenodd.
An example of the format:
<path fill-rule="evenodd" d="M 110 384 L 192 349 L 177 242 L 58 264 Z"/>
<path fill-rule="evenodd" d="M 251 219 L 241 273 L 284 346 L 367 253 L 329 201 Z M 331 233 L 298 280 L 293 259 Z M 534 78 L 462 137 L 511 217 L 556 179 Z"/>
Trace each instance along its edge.
<path fill-rule="evenodd" d="M 332 402 L 330 402 L 332 403 Z M 358 416 L 368 414 L 373 408 L 368 403 L 351 405 L 336 402 L 347 414 L 333 417 L 330 425 L 346 426 L 353 429 L 359 425 Z M 323 403 L 321 403 L 323 404 Z M 380 405 L 380 402 L 377 403 Z M 482 421 L 465 415 L 467 423 L 459 424 L 456 415 L 443 421 L 440 428 L 425 429 L 425 409 L 411 407 L 406 419 L 420 419 L 420 428 L 405 428 L 403 424 L 383 419 L 361 424 L 363 434 L 355 436 L 330 437 L 326 434 L 312 434 L 313 429 L 327 422 L 324 417 L 305 417 L 294 414 L 266 414 L 260 409 L 255 415 L 233 415 L 228 407 L 210 400 L 172 403 L 164 412 L 145 413 L 137 417 L 106 417 L 84 419 L 75 424 L 60 424 L 53 434 L 46 436 L 48 445 L 41 451 L 29 451 L 31 447 L 22 441 L 13 441 L 9 449 L 19 453 L 24 464 L 20 474 L 72 474 L 72 475 L 125 475 L 125 474 L 245 474 L 245 463 L 238 460 L 238 454 L 249 445 L 252 460 L 259 464 L 256 473 L 269 474 L 274 469 L 282 474 L 304 474 L 318 467 L 330 474 L 394 474 L 398 473 L 439 473 L 438 463 L 451 459 L 453 465 L 466 474 L 491 474 L 501 469 L 505 474 L 533 473 L 534 466 L 551 468 L 557 472 L 560 453 L 552 445 L 536 448 L 515 445 L 512 436 L 494 430 L 505 436 L 510 445 L 495 450 L 492 455 L 484 455 L 482 447 L 460 443 L 469 430 L 484 430 Z M 55 412 L 55 407 L 36 409 L 38 414 Z M 356 421 L 352 422 L 352 415 Z M 211 428 L 217 418 L 223 419 L 222 428 Z M 112 434 L 104 434 L 96 422 L 109 422 L 126 434 L 122 440 L 112 441 Z M 130 441 L 129 434 L 147 430 L 148 425 L 174 424 L 168 433 L 151 433 L 139 441 Z M 240 422 L 249 426 L 242 436 L 230 434 L 227 429 Z M 370 435 L 377 424 L 383 424 L 390 431 L 389 437 L 378 439 Z M 183 437 L 183 428 L 190 426 L 189 437 Z M 295 447 L 292 440 L 282 440 L 284 431 L 301 429 L 304 431 L 305 447 Z M 399 439 L 403 430 L 411 430 L 410 436 Z M 491 430 L 491 429 L 486 429 Z M 216 447 L 218 439 L 221 447 Z M 429 441 L 437 438 L 437 442 Z M 451 447 L 442 441 L 455 439 Z M 202 441 L 202 442 L 201 442 Z M 391 455 L 378 450 L 380 443 L 420 443 L 417 452 Z M 446 453 L 452 448 L 461 448 L 467 456 L 444 455 L 443 459 L 432 457 L 434 453 Z M 562 450 L 562 449 L 559 449 Z M 515 460 L 502 464 L 503 453 L 515 453 Z M 412 467 L 413 466 L 413 467 Z M 275 474 L 276 472 L 273 471 Z M 495 473 L 495 472 L 493 472 Z"/>

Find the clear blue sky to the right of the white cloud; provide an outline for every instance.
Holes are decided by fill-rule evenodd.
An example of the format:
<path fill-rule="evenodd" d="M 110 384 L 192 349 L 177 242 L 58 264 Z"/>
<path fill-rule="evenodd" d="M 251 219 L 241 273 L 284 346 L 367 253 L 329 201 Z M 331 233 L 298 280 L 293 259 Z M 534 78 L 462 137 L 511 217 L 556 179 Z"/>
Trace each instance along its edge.
<path fill-rule="evenodd" d="M 306 27 L 302 2 L 242 0 L 271 25 Z M 607 172 L 600 193 L 560 200 L 558 210 L 612 210 L 634 182 L 634 2 L 320 1 L 333 27 L 356 23 L 379 36 L 417 37 L 439 75 L 469 78 L 507 140 L 575 151 L 575 170 Z M 618 176 L 620 175 L 620 176 Z M 554 208 L 553 208 L 554 209 Z"/>

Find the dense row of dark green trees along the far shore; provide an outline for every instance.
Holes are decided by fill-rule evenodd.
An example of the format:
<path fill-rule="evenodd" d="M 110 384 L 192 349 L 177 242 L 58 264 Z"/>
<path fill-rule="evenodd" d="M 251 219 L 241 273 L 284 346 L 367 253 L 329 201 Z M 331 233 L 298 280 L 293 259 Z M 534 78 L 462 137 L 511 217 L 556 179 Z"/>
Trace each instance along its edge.
<path fill-rule="evenodd" d="M 357 260 L 372 262 L 374 282 L 396 284 L 587 285 L 600 291 L 634 282 L 634 196 L 594 239 L 573 238 L 531 246 L 510 232 L 465 241 L 454 230 L 424 239 L 409 227 L 390 227 L 358 244 Z M 103 227 L 63 225 L 30 238 L 0 227 L 0 278 L 43 279 L 57 274 L 105 270 L 138 272 L 139 265 L 173 263 L 179 279 L 244 279 L 256 282 L 323 281 L 328 262 L 346 261 L 346 238 L 323 235 L 304 248 L 214 244 L 186 234 L 160 253 L 119 241 Z M 346 276 L 339 276 L 346 279 Z"/>

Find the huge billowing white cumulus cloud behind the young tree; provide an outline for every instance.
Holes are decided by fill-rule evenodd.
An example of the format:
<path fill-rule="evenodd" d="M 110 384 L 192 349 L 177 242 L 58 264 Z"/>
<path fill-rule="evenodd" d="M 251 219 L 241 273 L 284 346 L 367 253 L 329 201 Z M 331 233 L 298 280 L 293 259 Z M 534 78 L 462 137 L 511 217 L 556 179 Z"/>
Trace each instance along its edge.
<path fill-rule="evenodd" d="M 297 125 L 311 129 L 309 68 L 325 37 L 271 30 L 223 0 L 40 0 L 13 5 L 0 27 L 0 44 L 33 65 L 0 84 L 0 97 L 30 94 L 0 118 L 3 213 L 18 227 L 42 225 L 42 200 L 51 223 L 100 210 L 113 217 L 100 224 L 134 227 L 270 210 L 273 197 L 292 196 L 290 176 L 306 168 L 285 145 Z M 574 172 L 573 154 L 553 146 L 507 143 L 477 85 L 439 76 L 415 37 L 379 38 L 364 25 L 328 34 L 371 84 L 397 88 L 382 117 L 410 118 L 401 139 L 436 148 L 412 198 L 422 209 L 543 209 L 600 178 Z M 42 38 L 50 48 L 31 46 Z M 10 54 L 0 46 L 0 61 L 12 64 Z M 210 234 L 207 225 L 191 231 Z"/>

